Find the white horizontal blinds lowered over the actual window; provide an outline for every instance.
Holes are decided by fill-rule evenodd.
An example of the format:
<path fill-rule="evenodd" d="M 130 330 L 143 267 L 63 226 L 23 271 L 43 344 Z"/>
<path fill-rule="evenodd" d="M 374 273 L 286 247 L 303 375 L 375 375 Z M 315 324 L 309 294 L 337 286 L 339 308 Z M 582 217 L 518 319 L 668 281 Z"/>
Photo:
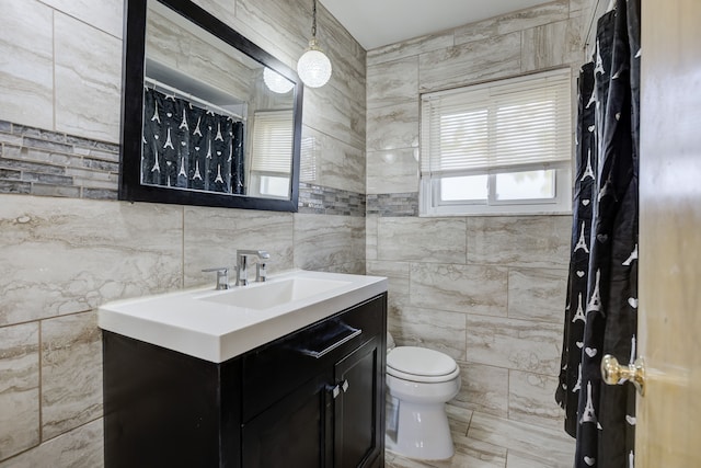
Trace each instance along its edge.
<path fill-rule="evenodd" d="M 572 157 L 570 70 L 422 95 L 422 175 L 486 173 Z"/>

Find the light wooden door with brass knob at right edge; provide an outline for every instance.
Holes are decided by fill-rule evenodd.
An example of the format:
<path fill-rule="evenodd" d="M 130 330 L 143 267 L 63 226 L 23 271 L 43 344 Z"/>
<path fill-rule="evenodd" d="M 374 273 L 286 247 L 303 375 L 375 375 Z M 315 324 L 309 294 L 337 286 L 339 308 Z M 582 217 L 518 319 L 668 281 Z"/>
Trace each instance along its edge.
<path fill-rule="evenodd" d="M 701 467 L 701 1 L 642 1 L 636 468 Z"/>

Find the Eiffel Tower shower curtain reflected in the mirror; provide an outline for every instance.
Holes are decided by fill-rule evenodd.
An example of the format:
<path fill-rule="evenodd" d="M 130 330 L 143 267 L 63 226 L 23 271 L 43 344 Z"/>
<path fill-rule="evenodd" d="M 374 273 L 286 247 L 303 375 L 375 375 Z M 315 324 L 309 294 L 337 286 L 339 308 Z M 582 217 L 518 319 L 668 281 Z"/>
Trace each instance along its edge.
<path fill-rule="evenodd" d="M 243 123 L 146 88 L 141 183 L 244 193 Z"/>

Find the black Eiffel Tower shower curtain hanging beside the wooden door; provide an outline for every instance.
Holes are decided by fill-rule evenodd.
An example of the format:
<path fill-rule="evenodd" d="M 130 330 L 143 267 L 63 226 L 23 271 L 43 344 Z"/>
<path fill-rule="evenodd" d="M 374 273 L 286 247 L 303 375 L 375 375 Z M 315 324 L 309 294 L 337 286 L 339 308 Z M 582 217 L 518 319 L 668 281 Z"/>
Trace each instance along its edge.
<path fill-rule="evenodd" d="M 636 357 L 640 0 L 597 24 L 578 89 L 572 256 L 555 399 L 576 437 L 576 468 L 633 468 L 635 390 L 607 386 L 600 363 Z"/>

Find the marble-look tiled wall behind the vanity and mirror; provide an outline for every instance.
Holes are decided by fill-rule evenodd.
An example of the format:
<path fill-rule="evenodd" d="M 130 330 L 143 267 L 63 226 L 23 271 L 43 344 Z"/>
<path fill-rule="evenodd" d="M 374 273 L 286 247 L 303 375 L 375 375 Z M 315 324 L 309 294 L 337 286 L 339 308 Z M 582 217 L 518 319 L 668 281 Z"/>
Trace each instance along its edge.
<path fill-rule="evenodd" d="M 289 66 L 307 46 L 311 2 L 196 2 Z M 99 305 L 214 286 L 200 270 L 241 248 L 267 249 L 271 274 L 365 273 L 365 50 L 320 8 L 334 76 L 304 92 L 313 208 L 123 203 L 123 4 L 0 0 L 1 468 L 103 466 Z"/>

